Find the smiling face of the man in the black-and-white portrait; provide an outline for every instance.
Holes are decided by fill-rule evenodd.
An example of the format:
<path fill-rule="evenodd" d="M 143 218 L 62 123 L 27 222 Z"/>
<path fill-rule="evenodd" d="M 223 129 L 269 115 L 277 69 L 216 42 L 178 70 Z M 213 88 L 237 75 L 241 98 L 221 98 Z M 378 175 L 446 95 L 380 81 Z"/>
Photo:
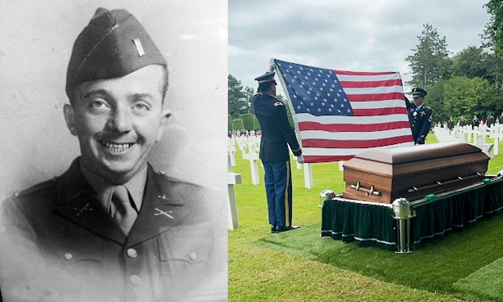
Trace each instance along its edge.
<path fill-rule="evenodd" d="M 149 65 L 77 87 L 64 113 L 84 165 L 112 182 L 127 181 L 145 167 L 170 116 L 162 110 L 163 75 L 162 66 Z"/>

